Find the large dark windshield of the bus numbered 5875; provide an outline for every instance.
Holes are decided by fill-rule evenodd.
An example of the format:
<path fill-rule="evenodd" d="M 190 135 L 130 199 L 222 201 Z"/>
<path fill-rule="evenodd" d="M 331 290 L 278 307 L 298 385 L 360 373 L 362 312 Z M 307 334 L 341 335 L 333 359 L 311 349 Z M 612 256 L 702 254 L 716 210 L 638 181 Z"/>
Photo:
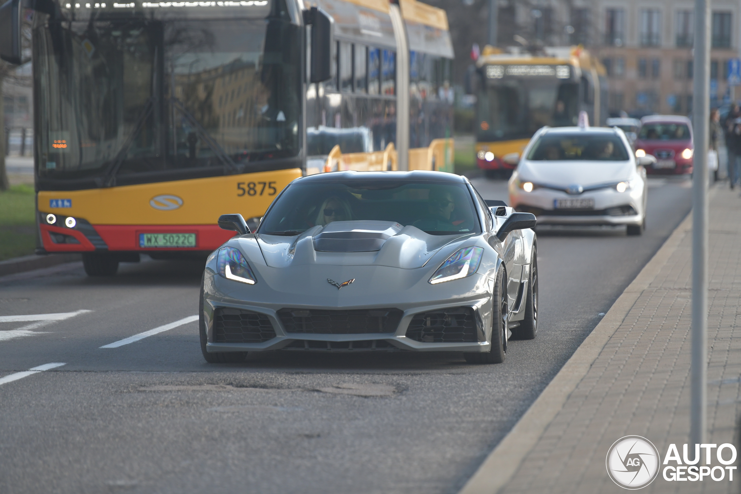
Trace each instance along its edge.
<path fill-rule="evenodd" d="M 268 19 L 37 28 L 41 188 L 260 171 L 297 157 L 301 42 L 281 4 Z"/>

